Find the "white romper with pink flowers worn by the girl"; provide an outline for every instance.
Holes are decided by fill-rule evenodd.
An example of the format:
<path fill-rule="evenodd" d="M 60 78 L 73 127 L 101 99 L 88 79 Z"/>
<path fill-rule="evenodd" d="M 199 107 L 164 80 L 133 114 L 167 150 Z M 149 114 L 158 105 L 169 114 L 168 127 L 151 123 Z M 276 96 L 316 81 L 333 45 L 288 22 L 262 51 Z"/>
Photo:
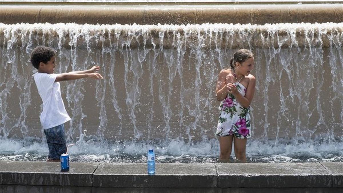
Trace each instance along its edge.
<path fill-rule="evenodd" d="M 247 89 L 239 82 L 234 83 L 238 92 L 245 96 Z M 219 106 L 220 116 L 216 130 L 217 136 L 235 135 L 238 139 L 251 137 L 250 107 L 244 108 L 235 99 L 233 94 L 228 94 Z"/>

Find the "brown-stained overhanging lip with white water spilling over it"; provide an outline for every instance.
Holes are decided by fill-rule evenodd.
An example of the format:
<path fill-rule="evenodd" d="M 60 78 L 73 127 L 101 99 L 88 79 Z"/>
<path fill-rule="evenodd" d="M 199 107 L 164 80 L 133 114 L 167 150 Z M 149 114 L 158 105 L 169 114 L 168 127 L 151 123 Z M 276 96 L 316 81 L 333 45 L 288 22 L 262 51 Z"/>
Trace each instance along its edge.
<path fill-rule="evenodd" d="M 342 20 L 343 21 L 343 20 Z M 275 25 L 88 25 L 4 24 L 0 46 L 12 49 L 45 44 L 63 49 L 235 49 L 242 47 L 335 47 L 343 23 Z"/>

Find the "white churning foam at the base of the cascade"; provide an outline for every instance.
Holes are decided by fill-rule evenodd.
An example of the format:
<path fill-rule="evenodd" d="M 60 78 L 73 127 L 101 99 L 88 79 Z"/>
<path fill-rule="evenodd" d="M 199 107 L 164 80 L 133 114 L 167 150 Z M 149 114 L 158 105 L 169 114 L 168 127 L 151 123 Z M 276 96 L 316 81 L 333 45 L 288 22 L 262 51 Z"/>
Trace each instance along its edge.
<path fill-rule="evenodd" d="M 1 160 L 42 159 L 47 156 L 48 147 L 43 142 L 0 139 Z M 216 139 L 198 143 L 185 143 L 175 139 L 164 143 L 146 144 L 143 141 L 102 141 L 85 143 L 78 141 L 70 148 L 70 157 L 74 160 L 91 162 L 144 162 L 147 149 L 153 147 L 159 161 L 178 162 L 188 160 L 213 162 L 219 156 L 219 143 Z M 259 140 L 248 140 L 247 157 L 255 162 L 316 162 L 343 160 L 343 142 L 309 142 L 295 143 L 288 140 L 268 143 Z M 14 155 L 13 155 L 14 154 Z M 234 151 L 232 152 L 234 157 Z M 207 160 L 206 160 L 207 159 Z"/>

